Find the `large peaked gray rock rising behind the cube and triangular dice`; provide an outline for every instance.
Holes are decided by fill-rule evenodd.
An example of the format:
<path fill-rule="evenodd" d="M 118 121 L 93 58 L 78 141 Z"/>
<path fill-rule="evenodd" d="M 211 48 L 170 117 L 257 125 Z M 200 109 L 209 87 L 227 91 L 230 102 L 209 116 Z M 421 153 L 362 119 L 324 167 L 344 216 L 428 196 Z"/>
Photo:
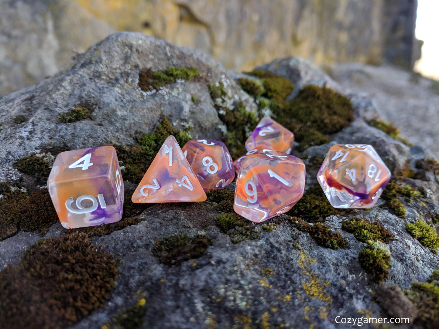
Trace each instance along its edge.
<path fill-rule="evenodd" d="M 144 92 L 138 86 L 139 72 L 169 66 L 198 68 L 198 82 L 176 82 L 160 90 Z M 195 127 L 194 138 L 221 139 L 219 121 L 208 83 L 222 82 L 233 95 L 230 104 L 243 101 L 248 111 L 256 104 L 243 92 L 229 72 L 209 57 L 159 41 L 141 33 L 120 32 L 74 58 L 69 68 L 36 86 L 0 99 L 0 181 L 15 180 L 12 163 L 42 148 L 71 149 L 133 144 L 136 135 L 151 132 L 163 116 L 182 129 Z M 191 100 L 194 96 L 196 104 Z M 61 123 L 58 115 L 81 104 L 93 110 L 93 119 Z M 23 115 L 25 121 L 15 123 Z M 25 143 L 24 143 L 25 141 Z"/>

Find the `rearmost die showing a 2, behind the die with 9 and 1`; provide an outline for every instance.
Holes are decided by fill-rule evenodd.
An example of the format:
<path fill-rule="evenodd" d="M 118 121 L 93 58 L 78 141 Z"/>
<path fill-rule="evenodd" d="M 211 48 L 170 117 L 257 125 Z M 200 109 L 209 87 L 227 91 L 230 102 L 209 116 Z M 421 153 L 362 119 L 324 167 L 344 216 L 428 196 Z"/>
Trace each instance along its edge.
<path fill-rule="evenodd" d="M 294 145 L 294 134 L 269 117 L 263 117 L 245 142 L 245 148 L 266 148 L 290 153 Z"/>

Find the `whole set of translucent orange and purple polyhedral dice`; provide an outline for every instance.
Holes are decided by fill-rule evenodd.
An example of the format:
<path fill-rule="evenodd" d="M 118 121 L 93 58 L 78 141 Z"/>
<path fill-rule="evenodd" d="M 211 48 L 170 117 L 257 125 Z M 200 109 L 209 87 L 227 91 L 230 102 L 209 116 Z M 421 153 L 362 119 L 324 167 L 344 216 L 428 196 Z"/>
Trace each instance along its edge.
<path fill-rule="evenodd" d="M 234 211 L 253 222 L 283 214 L 303 196 L 305 165 L 289 153 L 294 134 L 264 117 L 245 142 L 246 154 L 232 162 L 224 143 L 192 139 L 182 148 L 169 136 L 131 198 L 134 203 L 199 202 L 227 186 L 237 173 Z M 317 174 L 335 208 L 369 208 L 380 197 L 390 171 L 371 145 L 330 148 Z M 111 146 L 58 154 L 47 187 L 61 224 L 68 229 L 122 218 L 124 187 Z"/>

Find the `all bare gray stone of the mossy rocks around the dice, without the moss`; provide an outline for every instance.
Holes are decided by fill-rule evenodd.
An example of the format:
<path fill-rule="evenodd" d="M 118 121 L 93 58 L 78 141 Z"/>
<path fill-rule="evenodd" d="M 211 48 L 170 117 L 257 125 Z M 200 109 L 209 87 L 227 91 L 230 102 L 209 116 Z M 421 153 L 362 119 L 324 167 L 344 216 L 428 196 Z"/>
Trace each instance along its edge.
<path fill-rule="evenodd" d="M 202 72 L 202 79 L 177 82 L 149 93 L 138 88 L 139 70 L 155 71 L 171 65 L 195 66 Z M 267 67 L 276 69 L 272 64 Z M 295 82 L 302 86 L 310 81 L 303 77 L 313 77 L 318 85 L 331 81 L 299 59 L 288 58 L 279 67 L 285 72 L 299 72 Z M 207 83 L 222 81 L 232 100 L 242 100 L 248 110 L 254 110 L 252 99 L 234 82 L 237 76 L 198 52 L 163 40 L 126 32 L 109 36 L 77 56 L 67 70 L 0 99 L 0 180 L 20 178 L 22 174 L 11 164 L 36 149 L 64 144 L 74 149 L 110 141 L 132 143 L 135 130 L 151 131 L 163 114 L 176 127 L 194 125 L 194 136 L 221 138 L 222 123 Z M 191 102 L 192 94 L 200 103 Z M 377 116 L 370 99 L 354 94 L 350 97 L 355 100 L 356 120 L 332 136 L 332 143 L 371 143 L 393 172 L 425 154 L 420 147 L 409 148 L 368 126 L 365 119 Z M 57 114 L 83 102 L 94 104 L 93 120 L 69 124 L 58 121 Z M 19 114 L 25 115 L 26 122 L 14 123 L 13 118 Z M 324 156 L 332 143 L 297 155 L 304 159 Z M 316 168 L 307 168 L 307 188 L 315 183 L 316 173 Z M 275 223 L 275 230 L 266 232 L 259 224 L 257 239 L 233 244 L 215 225 L 218 210 L 211 202 L 154 205 L 140 215 L 144 220 L 137 225 L 93 238 L 94 243 L 120 257 L 119 277 L 104 307 L 72 328 L 100 328 L 120 310 L 133 306 L 138 290 L 146 294 L 142 328 L 242 328 L 250 324 L 248 321 L 253 327 L 350 328 L 333 320 L 338 315 L 386 316 L 386 308 L 374 301 L 378 285 L 370 282 L 358 261 L 365 243 L 342 231 L 341 222 L 363 216 L 379 219 L 396 236 L 385 246 L 392 257 L 387 283 L 407 288 L 412 281 L 425 281 L 439 267 L 438 256 L 413 239 L 405 225 L 421 214 L 428 220 L 427 210 L 439 211 L 439 186 L 435 181 L 403 182 L 418 189 L 424 187 L 426 195 L 421 200 L 428 209 L 403 200 L 407 216 L 399 218 L 386 209 L 384 200 L 379 200 L 371 210 L 329 216 L 326 224 L 349 241 L 346 249 L 338 250 L 320 247 L 308 233 L 294 230 L 286 215 L 268 221 Z M 47 234 L 58 236 L 63 232 L 56 224 Z M 168 267 L 151 253 L 156 239 L 199 232 L 208 234 L 213 245 L 198 259 Z M 16 263 L 25 247 L 39 238 L 36 233 L 20 233 L 2 241 L 0 266 Z"/>

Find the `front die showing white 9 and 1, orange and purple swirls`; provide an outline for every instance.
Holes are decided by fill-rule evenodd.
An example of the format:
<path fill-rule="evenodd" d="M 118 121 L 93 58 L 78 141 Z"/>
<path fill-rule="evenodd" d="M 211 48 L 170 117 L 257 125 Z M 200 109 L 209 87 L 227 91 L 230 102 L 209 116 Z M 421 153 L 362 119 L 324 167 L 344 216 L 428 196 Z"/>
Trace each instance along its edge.
<path fill-rule="evenodd" d="M 244 158 L 236 181 L 234 211 L 263 222 L 283 214 L 303 196 L 305 165 L 283 152 L 251 154 Z"/>

